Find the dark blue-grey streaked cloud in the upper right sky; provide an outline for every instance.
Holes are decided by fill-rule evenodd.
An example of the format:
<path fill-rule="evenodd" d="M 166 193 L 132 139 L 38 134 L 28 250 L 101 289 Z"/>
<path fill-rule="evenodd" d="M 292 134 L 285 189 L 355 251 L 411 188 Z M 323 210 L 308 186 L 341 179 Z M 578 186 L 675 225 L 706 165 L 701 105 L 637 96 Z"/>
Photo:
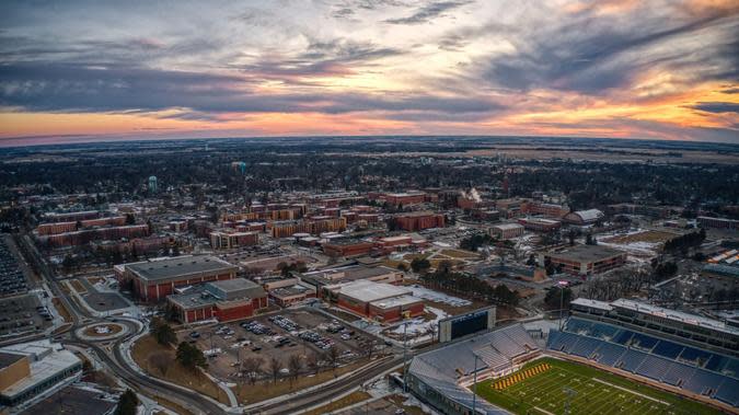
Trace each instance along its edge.
<path fill-rule="evenodd" d="M 546 88 L 597 94 L 627 88 L 644 70 L 657 66 L 670 69 L 682 66 L 692 70 L 692 76 L 707 79 L 736 79 L 739 74 L 734 42 L 706 45 L 691 53 L 670 44 L 679 36 L 712 25 L 727 35 L 739 35 L 737 22 L 727 23 L 725 13 L 706 14 L 678 24 L 646 12 L 627 18 L 633 19 L 626 23 L 580 13 L 569 21 L 538 27 L 536 32 L 531 27 L 510 32 L 496 27 L 495 33 L 505 36 L 516 51 L 494 57 L 483 66 L 483 77 L 513 90 Z M 655 45 L 665 47 L 640 53 Z M 706 60 L 711 65 L 706 65 Z"/>

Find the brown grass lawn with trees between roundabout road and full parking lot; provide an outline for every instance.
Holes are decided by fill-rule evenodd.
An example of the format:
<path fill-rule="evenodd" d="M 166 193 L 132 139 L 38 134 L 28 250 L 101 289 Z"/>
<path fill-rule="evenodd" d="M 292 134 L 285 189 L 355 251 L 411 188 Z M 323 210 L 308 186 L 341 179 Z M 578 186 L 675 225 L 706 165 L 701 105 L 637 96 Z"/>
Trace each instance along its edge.
<path fill-rule="evenodd" d="M 164 353 L 169 355 L 172 362 L 169 366 L 166 373 L 151 366 L 149 357 L 155 353 Z M 157 378 L 168 380 L 172 383 L 183 385 L 194 391 L 208 395 L 218 402 L 229 403 L 229 397 L 213 381 L 208 379 L 199 370 L 192 371 L 180 365 L 175 358 L 174 347 L 165 347 L 157 343 L 151 335 L 146 335 L 139 338 L 131 347 L 131 356 L 136 364 L 147 373 Z"/>

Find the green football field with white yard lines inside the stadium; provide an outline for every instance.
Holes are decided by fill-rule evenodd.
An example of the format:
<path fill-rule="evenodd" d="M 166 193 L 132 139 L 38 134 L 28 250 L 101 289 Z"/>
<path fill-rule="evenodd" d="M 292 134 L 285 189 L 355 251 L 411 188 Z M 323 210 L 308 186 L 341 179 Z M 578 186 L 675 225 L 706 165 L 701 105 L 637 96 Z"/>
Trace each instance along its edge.
<path fill-rule="evenodd" d="M 540 368 L 538 373 L 522 379 L 527 369 L 544 364 L 549 365 L 549 369 Z M 501 389 L 494 388 L 496 382 Z M 569 402 L 569 414 L 573 415 L 721 413 L 700 402 L 589 366 L 552 358 L 531 361 L 503 379 L 478 382 L 476 392 L 478 396 L 516 414 L 564 414 L 566 402 Z"/>

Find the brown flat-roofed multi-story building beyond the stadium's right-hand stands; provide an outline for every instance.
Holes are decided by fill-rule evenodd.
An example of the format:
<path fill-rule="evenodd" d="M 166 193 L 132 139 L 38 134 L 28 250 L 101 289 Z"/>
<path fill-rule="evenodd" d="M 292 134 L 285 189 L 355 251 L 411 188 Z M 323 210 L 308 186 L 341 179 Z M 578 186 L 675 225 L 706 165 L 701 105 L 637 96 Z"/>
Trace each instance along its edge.
<path fill-rule="evenodd" d="M 601 245 L 575 245 L 539 254 L 540 266 L 546 266 L 550 262 L 563 273 L 588 276 L 622 266 L 626 262 L 626 254 Z"/>

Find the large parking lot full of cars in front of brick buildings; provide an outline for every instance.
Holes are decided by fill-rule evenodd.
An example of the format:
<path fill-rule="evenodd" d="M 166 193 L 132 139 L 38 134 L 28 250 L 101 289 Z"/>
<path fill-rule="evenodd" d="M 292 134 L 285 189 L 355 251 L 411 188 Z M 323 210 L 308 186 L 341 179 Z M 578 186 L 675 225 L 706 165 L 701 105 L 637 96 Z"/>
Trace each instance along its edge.
<path fill-rule="evenodd" d="M 280 373 L 289 373 L 289 360 L 301 357 L 303 370 L 309 361 L 319 366 L 340 366 L 356 361 L 374 342 L 374 353 L 384 343 L 312 309 L 290 309 L 253 319 L 201 326 L 178 333 L 181 341 L 194 343 L 208 357 L 208 371 L 223 380 L 238 380 L 240 365 L 250 358 L 262 362 L 261 378 L 268 377 L 268 362 L 281 362 Z M 335 360 L 335 362 L 334 362 Z"/>

